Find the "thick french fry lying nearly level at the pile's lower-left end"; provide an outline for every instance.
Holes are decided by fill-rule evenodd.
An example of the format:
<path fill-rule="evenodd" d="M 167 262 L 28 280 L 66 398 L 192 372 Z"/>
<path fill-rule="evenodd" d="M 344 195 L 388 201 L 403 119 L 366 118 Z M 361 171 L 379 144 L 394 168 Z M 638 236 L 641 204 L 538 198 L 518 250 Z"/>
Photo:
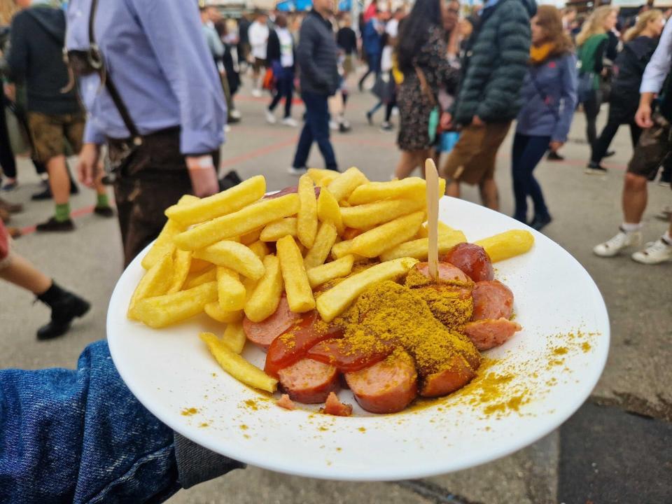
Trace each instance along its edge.
<path fill-rule="evenodd" d="M 216 300 L 217 282 L 208 282 L 189 290 L 140 300 L 134 313 L 146 325 L 162 328 L 200 314 L 206 304 Z"/>

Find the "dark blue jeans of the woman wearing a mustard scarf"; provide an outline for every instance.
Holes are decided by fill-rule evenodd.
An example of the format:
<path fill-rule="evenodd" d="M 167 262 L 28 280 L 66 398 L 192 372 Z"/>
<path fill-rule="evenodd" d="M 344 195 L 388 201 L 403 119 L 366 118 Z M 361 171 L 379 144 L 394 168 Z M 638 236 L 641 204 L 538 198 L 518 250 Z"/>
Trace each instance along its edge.
<path fill-rule="evenodd" d="M 514 218 L 527 222 L 527 197 L 532 198 L 535 216 L 548 216 L 539 183 L 533 171 L 548 150 L 551 137 L 532 137 L 516 133 L 513 139 L 511 171 L 513 176 L 513 194 L 516 200 Z"/>

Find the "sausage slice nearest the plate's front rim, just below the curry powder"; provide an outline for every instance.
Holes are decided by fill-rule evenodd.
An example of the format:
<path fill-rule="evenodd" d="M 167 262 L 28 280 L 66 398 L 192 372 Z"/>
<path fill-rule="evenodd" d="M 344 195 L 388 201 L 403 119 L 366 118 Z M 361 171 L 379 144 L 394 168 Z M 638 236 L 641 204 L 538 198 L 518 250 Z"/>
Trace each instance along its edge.
<path fill-rule="evenodd" d="M 400 412 L 418 393 L 415 363 L 399 351 L 371 367 L 346 373 L 345 381 L 359 405 L 372 413 Z"/>

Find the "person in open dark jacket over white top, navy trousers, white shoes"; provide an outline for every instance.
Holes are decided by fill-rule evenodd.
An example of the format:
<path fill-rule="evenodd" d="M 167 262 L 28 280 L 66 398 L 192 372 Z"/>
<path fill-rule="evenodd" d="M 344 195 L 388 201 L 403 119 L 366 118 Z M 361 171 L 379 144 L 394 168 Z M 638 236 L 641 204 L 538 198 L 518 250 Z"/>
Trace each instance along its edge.
<path fill-rule="evenodd" d="M 273 99 L 266 111 L 266 120 L 270 124 L 276 123 L 273 111 L 285 99 L 285 115 L 282 124 L 297 127 L 297 122 L 292 118 L 292 99 L 294 97 L 294 38 L 287 28 L 287 18 L 284 14 L 278 14 L 275 18 L 276 27 L 268 36 L 268 48 L 266 51 L 268 63 L 273 69 L 276 78 L 276 89 Z"/>

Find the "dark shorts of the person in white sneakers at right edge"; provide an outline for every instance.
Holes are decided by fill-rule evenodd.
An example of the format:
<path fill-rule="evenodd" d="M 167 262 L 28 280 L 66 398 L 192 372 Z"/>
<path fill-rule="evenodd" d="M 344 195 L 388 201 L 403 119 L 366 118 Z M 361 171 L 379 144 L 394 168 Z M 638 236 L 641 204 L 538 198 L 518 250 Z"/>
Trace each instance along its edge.
<path fill-rule="evenodd" d="M 672 127 L 668 120 L 659 113 L 654 113 L 652 120 L 653 126 L 642 132 L 628 165 L 629 173 L 648 180 L 656 178 L 672 149 Z"/>

